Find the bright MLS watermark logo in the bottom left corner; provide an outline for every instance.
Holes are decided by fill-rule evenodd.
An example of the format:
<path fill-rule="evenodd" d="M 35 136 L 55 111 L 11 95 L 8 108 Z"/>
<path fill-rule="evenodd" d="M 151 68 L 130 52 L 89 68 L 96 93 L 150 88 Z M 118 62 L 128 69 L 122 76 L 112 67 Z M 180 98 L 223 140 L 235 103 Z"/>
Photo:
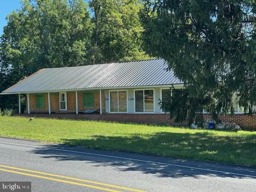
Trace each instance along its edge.
<path fill-rule="evenodd" d="M 31 182 L 1 182 L 0 192 L 19 191 L 31 192 Z"/>

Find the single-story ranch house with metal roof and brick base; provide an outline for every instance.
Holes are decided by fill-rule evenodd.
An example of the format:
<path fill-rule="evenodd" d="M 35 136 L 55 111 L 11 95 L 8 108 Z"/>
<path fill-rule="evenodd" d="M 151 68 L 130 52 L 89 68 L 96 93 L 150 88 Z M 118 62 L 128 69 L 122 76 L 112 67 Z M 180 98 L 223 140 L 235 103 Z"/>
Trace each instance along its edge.
<path fill-rule="evenodd" d="M 1 94 L 19 94 L 19 114 L 52 118 L 172 124 L 158 103 L 182 87 L 163 59 L 46 68 Z M 21 114 L 20 95 L 27 106 Z M 17 101 L 18 102 L 18 101 Z M 255 116 L 220 116 L 225 122 L 256 127 Z M 207 115 L 205 115 L 207 116 Z"/>

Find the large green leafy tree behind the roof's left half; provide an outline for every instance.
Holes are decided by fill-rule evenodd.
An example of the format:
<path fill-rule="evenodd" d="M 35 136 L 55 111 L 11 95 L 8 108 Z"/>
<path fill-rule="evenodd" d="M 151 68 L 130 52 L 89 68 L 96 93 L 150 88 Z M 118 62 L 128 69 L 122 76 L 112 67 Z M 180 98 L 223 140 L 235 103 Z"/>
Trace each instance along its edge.
<path fill-rule="evenodd" d="M 90 34 L 90 14 L 82 0 L 25 0 L 7 16 L 4 61 L 23 70 L 22 75 L 44 67 L 84 65 Z"/>

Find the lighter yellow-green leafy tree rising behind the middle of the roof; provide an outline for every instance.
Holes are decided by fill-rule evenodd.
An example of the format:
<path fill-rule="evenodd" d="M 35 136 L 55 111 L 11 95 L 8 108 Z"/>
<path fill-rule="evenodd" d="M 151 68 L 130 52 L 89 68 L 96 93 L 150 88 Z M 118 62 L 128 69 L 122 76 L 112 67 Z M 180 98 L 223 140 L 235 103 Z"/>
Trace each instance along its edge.
<path fill-rule="evenodd" d="M 92 63 L 144 58 L 139 20 L 142 4 L 135 0 L 91 0 Z"/>

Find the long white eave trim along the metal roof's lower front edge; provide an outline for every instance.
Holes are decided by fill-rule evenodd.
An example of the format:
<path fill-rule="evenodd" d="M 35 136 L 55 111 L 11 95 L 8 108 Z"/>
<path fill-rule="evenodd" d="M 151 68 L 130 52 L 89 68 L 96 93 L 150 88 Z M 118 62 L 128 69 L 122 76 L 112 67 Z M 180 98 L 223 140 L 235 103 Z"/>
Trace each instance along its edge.
<path fill-rule="evenodd" d="M 170 87 L 172 85 L 148 85 L 148 86 L 124 86 L 124 87 L 96 87 L 96 88 L 88 88 L 88 89 L 69 89 L 69 90 L 52 90 L 52 91 L 29 91 L 29 92 L 11 92 L 11 93 L 0 93 L 0 95 L 4 94 L 26 94 L 26 93 L 58 93 L 58 92 L 70 92 L 70 91 L 92 91 L 92 90 L 118 90 L 118 89 L 154 89 L 157 87 Z M 183 84 L 174 84 L 176 88 L 181 88 Z"/>

